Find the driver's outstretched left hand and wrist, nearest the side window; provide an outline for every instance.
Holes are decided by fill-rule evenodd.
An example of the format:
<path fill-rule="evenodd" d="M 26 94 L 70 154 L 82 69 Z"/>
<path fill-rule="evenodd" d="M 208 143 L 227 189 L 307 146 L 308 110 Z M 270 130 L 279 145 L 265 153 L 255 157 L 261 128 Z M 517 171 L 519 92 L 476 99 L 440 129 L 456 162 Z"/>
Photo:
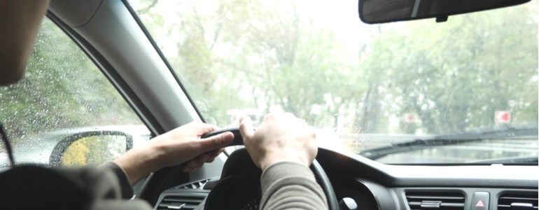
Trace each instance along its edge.
<path fill-rule="evenodd" d="M 232 143 L 232 132 L 201 139 L 202 135 L 215 130 L 219 130 L 219 127 L 188 123 L 151 139 L 146 145 L 133 148 L 114 162 L 125 171 L 131 183 L 162 167 L 181 163 L 184 163 L 184 172 L 193 172 L 204 162 L 213 162 L 223 148 Z"/>

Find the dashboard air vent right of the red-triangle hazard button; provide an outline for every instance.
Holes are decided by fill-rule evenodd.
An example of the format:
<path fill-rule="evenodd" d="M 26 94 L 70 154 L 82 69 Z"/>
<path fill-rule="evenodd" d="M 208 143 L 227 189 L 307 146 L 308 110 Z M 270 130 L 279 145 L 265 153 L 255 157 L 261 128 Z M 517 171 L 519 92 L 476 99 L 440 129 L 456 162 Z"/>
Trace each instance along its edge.
<path fill-rule="evenodd" d="M 537 209 L 538 193 L 503 193 L 498 197 L 498 209 Z"/>

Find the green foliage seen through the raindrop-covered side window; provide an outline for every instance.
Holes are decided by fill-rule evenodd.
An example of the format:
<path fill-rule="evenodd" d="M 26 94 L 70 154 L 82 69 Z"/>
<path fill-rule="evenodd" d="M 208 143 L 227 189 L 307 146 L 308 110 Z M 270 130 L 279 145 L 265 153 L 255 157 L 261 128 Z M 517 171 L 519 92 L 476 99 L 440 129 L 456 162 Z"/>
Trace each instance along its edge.
<path fill-rule="evenodd" d="M 109 80 L 49 20 L 38 31 L 25 77 L 0 87 L 0 104 L 0 122 L 15 144 L 52 130 L 140 124 Z"/>

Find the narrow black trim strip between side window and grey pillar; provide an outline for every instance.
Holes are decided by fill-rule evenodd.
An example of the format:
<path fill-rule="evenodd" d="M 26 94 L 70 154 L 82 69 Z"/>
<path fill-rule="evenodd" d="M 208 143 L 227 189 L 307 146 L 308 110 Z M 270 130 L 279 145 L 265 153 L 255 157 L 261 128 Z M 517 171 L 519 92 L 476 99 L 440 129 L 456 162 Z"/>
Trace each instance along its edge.
<path fill-rule="evenodd" d="M 87 55 L 87 57 L 95 64 L 95 66 L 97 66 L 97 69 L 99 69 L 99 71 L 102 71 L 105 78 L 109 80 L 111 85 L 116 88 L 116 90 L 123 97 L 125 102 L 129 104 L 134 113 L 136 113 L 139 119 L 146 125 L 146 127 L 148 127 L 152 134 L 152 137 L 155 137 L 157 134 L 165 133 L 165 130 L 162 128 L 158 120 L 153 117 L 152 113 L 148 110 L 148 108 L 146 108 L 144 103 L 142 103 L 141 99 L 137 97 L 137 94 L 134 93 L 131 87 L 129 87 L 125 80 L 123 80 L 123 78 L 118 74 L 118 72 L 116 72 L 116 69 L 114 69 L 113 66 L 90 43 L 85 40 L 85 38 L 80 36 L 76 31 L 71 29 L 71 27 L 66 25 L 59 18 L 57 18 L 54 13 L 48 11 L 46 16 L 52 22 L 54 22 L 55 25 L 59 27 L 59 29 L 64 31 L 64 33 L 69 38 L 71 38 L 71 40 L 76 45 L 78 45 L 80 50 L 82 50 Z"/>

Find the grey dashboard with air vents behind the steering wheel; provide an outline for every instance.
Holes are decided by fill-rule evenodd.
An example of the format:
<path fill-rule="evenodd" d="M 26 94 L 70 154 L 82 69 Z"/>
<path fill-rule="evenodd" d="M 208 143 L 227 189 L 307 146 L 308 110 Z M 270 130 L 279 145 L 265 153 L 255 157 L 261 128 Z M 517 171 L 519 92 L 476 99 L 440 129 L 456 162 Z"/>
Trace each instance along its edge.
<path fill-rule="evenodd" d="M 539 167 L 384 165 L 320 148 L 340 209 L 538 209 Z M 221 177 L 169 188 L 155 209 L 258 209 L 260 169 L 240 149 Z"/>

